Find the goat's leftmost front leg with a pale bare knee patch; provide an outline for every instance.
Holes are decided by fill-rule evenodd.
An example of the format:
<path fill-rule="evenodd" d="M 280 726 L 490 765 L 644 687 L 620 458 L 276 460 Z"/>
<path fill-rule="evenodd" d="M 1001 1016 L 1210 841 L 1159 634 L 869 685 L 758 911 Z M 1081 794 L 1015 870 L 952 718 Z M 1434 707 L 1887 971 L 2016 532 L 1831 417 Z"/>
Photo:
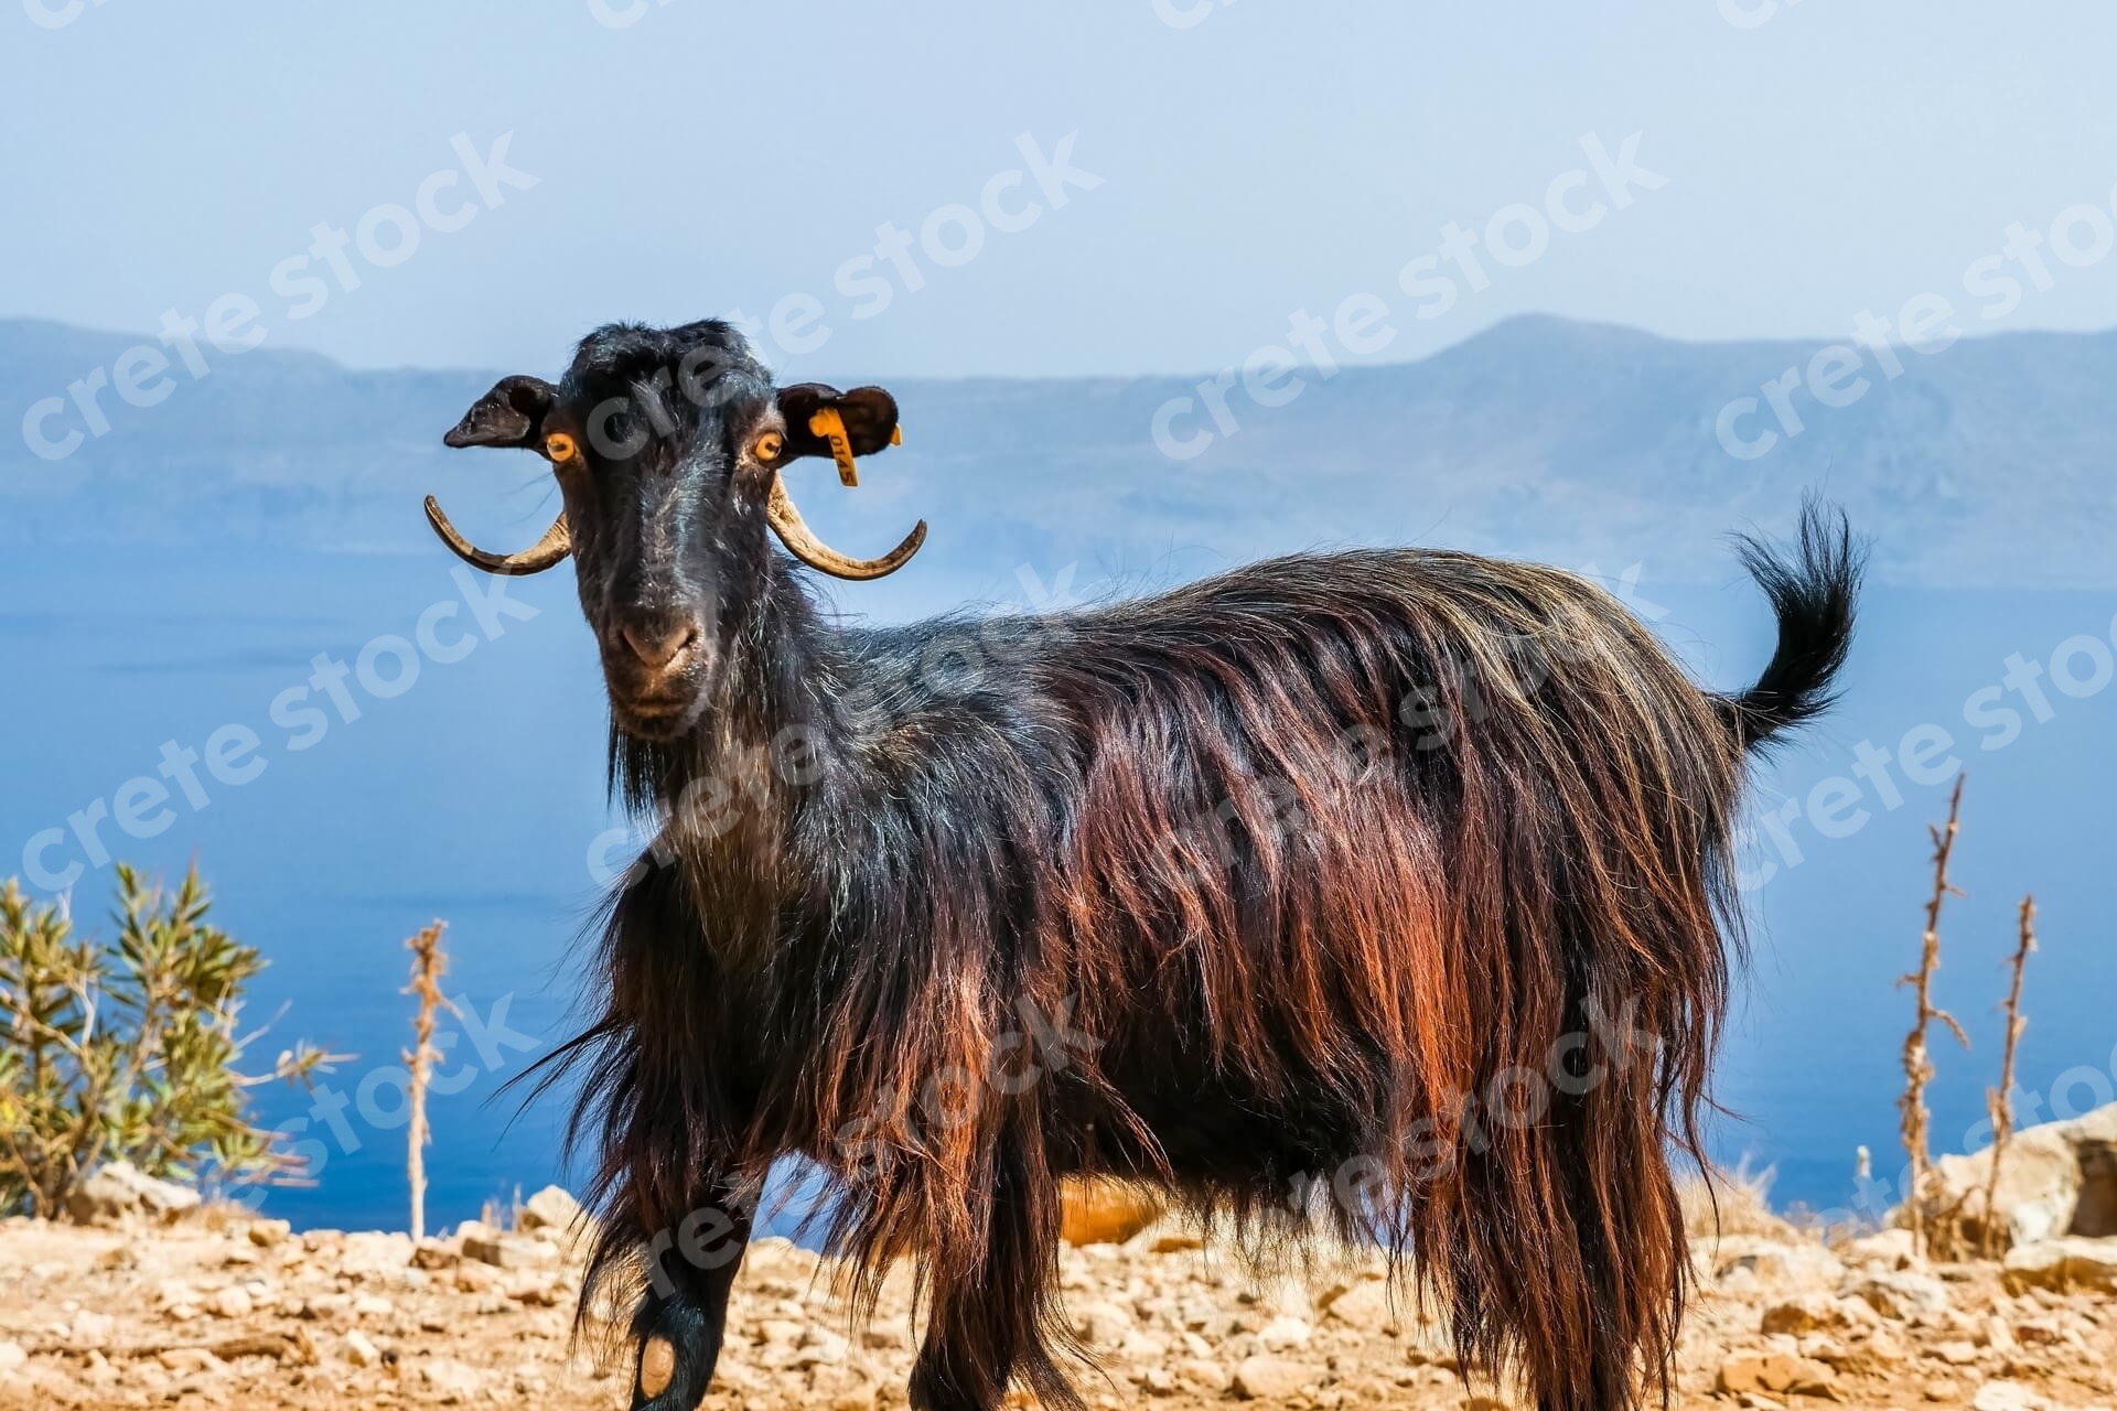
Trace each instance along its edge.
<path fill-rule="evenodd" d="M 705 1398 L 747 1246 L 749 1210 L 724 1193 L 652 1238 L 648 1295 L 633 1314 L 633 1411 L 692 1411 Z"/>

